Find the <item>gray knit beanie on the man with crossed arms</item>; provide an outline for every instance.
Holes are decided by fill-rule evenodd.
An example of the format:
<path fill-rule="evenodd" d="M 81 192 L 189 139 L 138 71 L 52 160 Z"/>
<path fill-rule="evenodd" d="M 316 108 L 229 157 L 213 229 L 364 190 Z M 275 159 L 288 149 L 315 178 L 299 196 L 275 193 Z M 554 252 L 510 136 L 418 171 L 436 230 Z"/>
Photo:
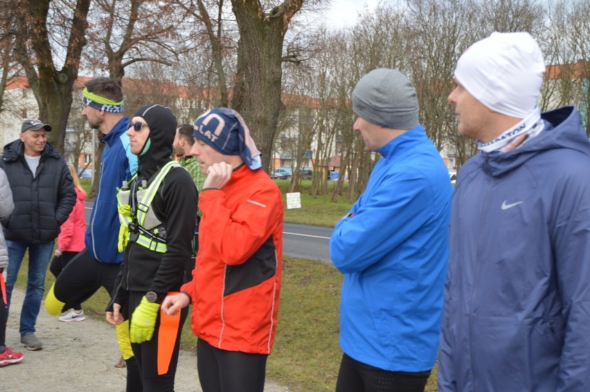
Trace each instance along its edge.
<path fill-rule="evenodd" d="M 396 69 L 378 68 L 361 77 L 352 91 L 352 110 L 391 129 L 412 129 L 420 122 L 414 86 Z"/>

